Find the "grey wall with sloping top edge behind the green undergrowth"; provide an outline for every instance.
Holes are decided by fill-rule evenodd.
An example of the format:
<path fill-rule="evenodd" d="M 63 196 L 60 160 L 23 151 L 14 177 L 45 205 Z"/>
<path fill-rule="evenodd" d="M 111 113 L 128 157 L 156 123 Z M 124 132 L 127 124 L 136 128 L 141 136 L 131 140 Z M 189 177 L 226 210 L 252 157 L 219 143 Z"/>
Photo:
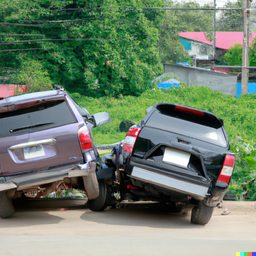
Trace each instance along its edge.
<path fill-rule="evenodd" d="M 223 74 L 202 68 L 195 68 L 176 64 L 163 64 L 164 75 L 173 73 L 174 78 L 187 86 L 207 86 L 214 91 L 224 92 L 236 96 L 237 76 Z"/>

